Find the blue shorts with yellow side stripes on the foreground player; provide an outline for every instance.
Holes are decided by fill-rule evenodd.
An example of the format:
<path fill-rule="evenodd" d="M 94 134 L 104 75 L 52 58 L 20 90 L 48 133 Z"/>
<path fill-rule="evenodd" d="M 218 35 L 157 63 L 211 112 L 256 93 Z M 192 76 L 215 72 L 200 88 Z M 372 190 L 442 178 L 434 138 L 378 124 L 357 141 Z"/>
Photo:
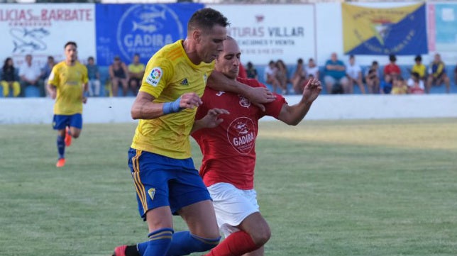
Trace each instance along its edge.
<path fill-rule="evenodd" d="M 143 220 L 153 208 L 170 206 L 172 213 L 177 214 L 182 207 L 211 200 L 192 158 L 174 159 L 131 148 L 128 166 Z"/>

